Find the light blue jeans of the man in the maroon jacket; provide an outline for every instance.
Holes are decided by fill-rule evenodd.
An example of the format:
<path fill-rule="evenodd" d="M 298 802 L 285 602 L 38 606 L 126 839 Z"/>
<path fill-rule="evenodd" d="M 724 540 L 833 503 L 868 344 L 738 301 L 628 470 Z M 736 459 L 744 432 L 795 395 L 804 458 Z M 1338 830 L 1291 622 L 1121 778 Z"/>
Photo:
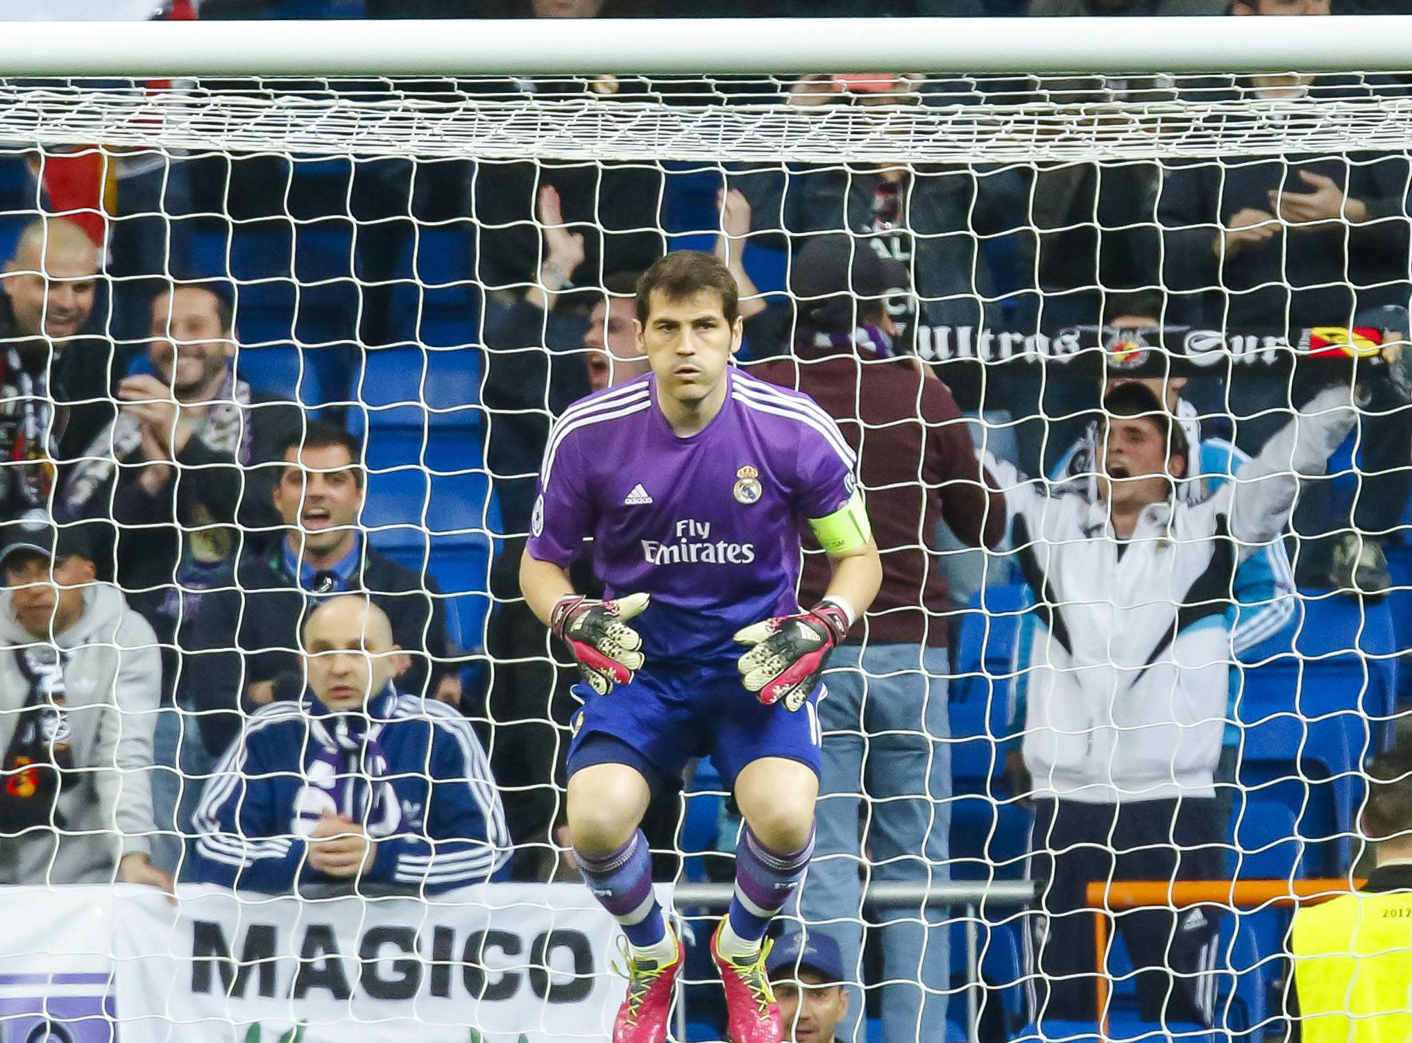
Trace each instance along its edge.
<path fill-rule="evenodd" d="M 834 937 L 850 975 L 858 972 L 863 948 L 860 868 L 873 881 L 950 879 L 949 672 L 945 648 L 844 645 L 823 679 L 819 833 L 799 889 L 799 913 L 812 930 Z M 884 1043 L 946 1039 L 946 912 L 921 905 L 875 912 L 888 982 L 882 987 Z M 857 977 L 854 984 L 861 984 Z M 842 1040 L 866 1037 L 858 1027 L 860 999 L 854 994 L 839 1026 Z"/>

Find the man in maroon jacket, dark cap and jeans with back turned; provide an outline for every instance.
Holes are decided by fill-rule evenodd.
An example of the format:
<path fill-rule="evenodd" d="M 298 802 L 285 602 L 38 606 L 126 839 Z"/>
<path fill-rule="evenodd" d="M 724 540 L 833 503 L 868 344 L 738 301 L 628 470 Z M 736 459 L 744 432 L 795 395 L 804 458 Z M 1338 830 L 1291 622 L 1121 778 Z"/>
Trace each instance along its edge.
<path fill-rule="evenodd" d="M 892 354 L 887 298 L 907 292 L 907 270 L 866 239 L 810 243 L 791 278 L 799 309 L 794 353 L 750 370 L 805 391 L 837 419 L 858 453 L 882 553 L 882 589 L 863 639 L 840 646 L 825 677 L 818 841 L 801 892 L 805 920 L 839 941 L 854 984 L 861 984 L 860 860 L 873 862 L 875 881 L 949 876 L 947 589 L 932 549 L 936 526 L 945 518 L 970 546 L 995 546 L 1005 529 L 1004 500 L 986 483 L 952 392 L 915 357 Z M 799 584 L 806 604 L 823 593 L 827 574 L 820 552 L 806 556 Z M 861 841 L 860 823 L 867 826 Z M 882 998 L 884 1043 L 946 1037 L 943 912 L 894 909 L 884 926 L 882 977 L 891 982 Z M 856 1032 L 856 1025 L 840 1026 L 842 1039 Z"/>

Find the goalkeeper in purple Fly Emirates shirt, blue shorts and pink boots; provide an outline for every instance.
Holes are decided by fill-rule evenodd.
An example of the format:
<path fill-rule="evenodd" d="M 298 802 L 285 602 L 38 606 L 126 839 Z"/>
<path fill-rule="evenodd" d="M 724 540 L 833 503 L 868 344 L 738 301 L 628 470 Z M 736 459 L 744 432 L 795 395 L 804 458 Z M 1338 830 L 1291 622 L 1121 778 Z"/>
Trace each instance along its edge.
<path fill-rule="evenodd" d="M 659 260 L 638 282 L 635 326 L 651 373 L 559 418 L 520 567 L 525 600 L 585 679 L 569 834 L 627 936 L 613 1040 L 661 1043 L 682 947 L 638 823 L 655 786 L 709 754 L 746 819 L 710 943 L 729 1032 L 778 1043 L 762 939 L 813 850 L 819 677 L 882 569 L 837 425 L 806 395 L 730 367 L 741 319 L 726 265 L 695 251 Z M 833 563 L 808 611 L 795 594 L 805 531 Z M 568 579 L 586 538 L 604 601 Z"/>

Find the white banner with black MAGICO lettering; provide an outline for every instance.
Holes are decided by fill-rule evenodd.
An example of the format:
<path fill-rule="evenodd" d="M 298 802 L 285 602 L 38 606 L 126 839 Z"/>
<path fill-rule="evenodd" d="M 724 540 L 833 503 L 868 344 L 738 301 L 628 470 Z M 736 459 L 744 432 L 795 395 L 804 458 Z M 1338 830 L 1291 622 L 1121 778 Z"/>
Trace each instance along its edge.
<path fill-rule="evenodd" d="M 0 965 L 27 950 L 42 998 L 56 987 L 42 971 L 71 970 L 58 950 L 82 955 L 73 970 L 99 994 L 110 960 L 123 1043 L 587 1043 L 610 1035 L 626 988 L 617 926 L 582 885 L 428 900 L 181 892 L 0 888 L 0 922 L 27 924 Z"/>

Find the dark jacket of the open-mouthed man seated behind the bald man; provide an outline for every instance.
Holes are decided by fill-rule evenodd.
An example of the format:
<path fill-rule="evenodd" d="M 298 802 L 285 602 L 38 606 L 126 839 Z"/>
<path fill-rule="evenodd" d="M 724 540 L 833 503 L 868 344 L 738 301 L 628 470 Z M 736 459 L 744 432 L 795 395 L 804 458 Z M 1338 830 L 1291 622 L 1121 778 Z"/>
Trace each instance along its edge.
<path fill-rule="evenodd" d="M 441 589 L 429 574 L 364 550 L 361 573 L 350 587 L 371 594 L 393 622 L 393 639 L 412 655 L 411 668 L 397 679 L 398 690 L 429 692 L 456 670 L 448 661 Z M 243 716 L 258 709 L 244 696 L 249 685 L 273 680 L 275 699 L 304 694 L 298 649 L 306 603 L 285 572 L 280 546 L 247 555 L 234 586 L 203 598 L 189 629 L 179 685 L 185 704 L 201 713 L 201 737 L 212 755 L 219 756 L 240 732 Z"/>

